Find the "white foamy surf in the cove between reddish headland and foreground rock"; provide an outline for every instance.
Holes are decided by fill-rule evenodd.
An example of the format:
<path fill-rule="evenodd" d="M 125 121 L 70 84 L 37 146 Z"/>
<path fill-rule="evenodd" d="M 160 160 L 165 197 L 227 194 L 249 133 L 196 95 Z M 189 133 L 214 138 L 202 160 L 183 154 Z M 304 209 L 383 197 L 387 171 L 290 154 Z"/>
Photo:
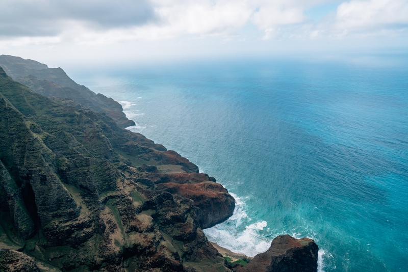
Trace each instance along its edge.
<path fill-rule="evenodd" d="M 244 209 L 245 203 L 236 195 L 231 195 L 236 200 L 233 215 L 227 221 L 205 229 L 204 233 L 210 241 L 216 242 L 219 246 L 232 252 L 245 254 L 249 257 L 265 252 L 269 249 L 271 240 L 263 237 L 259 231 L 267 226 L 266 221 L 258 221 L 243 228 L 241 225 L 248 224 L 250 221 Z"/>

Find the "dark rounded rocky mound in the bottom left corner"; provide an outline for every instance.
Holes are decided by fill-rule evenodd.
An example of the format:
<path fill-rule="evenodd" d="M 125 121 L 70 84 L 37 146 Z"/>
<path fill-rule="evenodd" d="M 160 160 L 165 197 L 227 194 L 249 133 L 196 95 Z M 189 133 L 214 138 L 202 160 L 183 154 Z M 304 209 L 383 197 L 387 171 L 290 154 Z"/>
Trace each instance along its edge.
<path fill-rule="evenodd" d="M 0 250 L 0 271 L 40 272 L 33 258 L 14 250 Z"/>

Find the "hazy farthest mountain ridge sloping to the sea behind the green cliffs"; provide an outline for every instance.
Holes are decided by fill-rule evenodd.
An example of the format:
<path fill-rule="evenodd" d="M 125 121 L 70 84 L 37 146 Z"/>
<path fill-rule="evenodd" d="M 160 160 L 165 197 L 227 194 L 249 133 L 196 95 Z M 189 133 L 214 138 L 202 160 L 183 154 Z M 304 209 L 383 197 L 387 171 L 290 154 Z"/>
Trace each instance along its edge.
<path fill-rule="evenodd" d="M 14 80 L 36 93 L 72 99 L 95 112 L 107 114 L 122 128 L 135 125 L 134 121 L 126 118 L 118 102 L 75 83 L 61 68 L 48 68 L 33 60 L 7 55 L 0 56 L 0 67 Z"/>

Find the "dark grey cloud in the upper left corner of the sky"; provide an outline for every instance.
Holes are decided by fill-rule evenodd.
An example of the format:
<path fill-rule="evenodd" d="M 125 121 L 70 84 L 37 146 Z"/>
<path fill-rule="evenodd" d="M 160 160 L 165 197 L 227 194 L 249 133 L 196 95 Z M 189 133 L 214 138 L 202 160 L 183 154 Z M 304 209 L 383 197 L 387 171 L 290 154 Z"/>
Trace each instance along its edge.
<path fill-rule="evenodd" d="M 155 19 L 145 0 L 3 0 L 1 6 L 0 36 L 50 36 L 72 24 L 111 29 Z"/>

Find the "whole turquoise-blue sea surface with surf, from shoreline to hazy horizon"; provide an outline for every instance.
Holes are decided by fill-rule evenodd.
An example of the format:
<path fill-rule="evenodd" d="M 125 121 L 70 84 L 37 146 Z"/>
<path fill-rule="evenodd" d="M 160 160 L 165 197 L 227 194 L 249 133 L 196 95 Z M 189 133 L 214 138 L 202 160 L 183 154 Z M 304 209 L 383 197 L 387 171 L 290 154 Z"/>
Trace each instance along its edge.
<path fill-rule="evenodd" d="M 237 200 L 209 240 L 311 237 L 319 271 L 408 271 L 408 67 L 201 62 L 70 75 Z"/>

